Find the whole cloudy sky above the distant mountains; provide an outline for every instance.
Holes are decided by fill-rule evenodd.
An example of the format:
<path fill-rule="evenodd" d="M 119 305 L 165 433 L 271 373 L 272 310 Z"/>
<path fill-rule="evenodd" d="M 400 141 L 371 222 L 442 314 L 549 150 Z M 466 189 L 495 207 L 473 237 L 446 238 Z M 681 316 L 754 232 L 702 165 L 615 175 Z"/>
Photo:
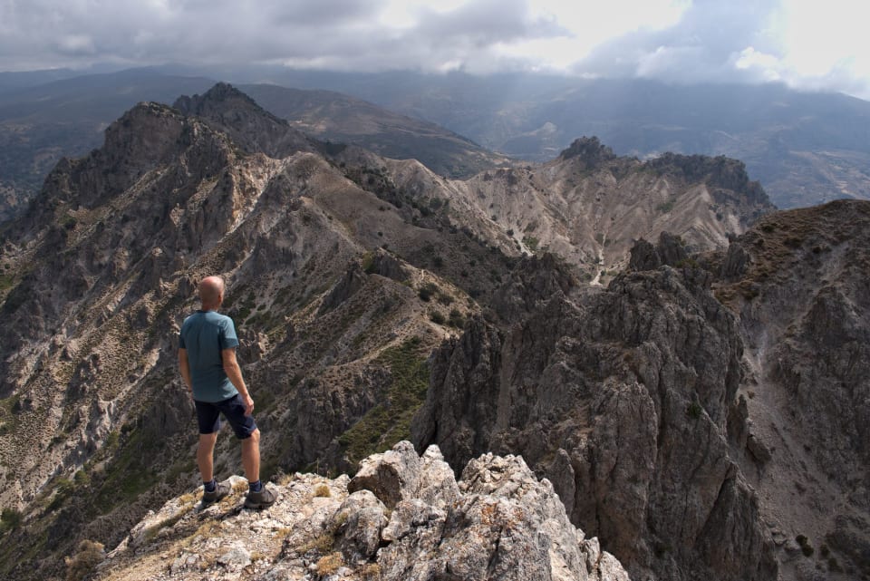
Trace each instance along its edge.
<path fill-rule="evenodd" d="M 0 71 L 522 69 L 870 99 L 868 17 L 857 0 L 0 0 Z"/>

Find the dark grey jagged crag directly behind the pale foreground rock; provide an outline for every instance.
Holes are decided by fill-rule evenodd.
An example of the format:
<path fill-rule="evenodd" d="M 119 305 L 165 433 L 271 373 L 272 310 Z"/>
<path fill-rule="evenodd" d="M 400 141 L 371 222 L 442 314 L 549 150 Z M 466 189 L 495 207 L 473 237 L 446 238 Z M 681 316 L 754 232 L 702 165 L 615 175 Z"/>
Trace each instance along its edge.
<path fill-rule="evenodd" d="M 745 421 L 738 320 L 711 280 L 625 273 L 605 290 L 537 298 L 503 332 L 469 326 L 434 356 L 416 445 L 438 444 L 452 466 L 522 454 L 633 576 L 776 578 L 729 436 Z"/>

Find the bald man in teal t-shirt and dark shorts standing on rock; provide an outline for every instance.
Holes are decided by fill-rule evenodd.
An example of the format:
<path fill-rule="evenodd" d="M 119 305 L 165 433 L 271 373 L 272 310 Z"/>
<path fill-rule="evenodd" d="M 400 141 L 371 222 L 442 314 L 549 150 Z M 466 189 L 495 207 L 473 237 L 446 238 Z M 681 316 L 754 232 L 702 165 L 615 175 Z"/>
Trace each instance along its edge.
<path fill-rule="evenodd" d="M 242 441 L 242 465 L 250 488 L 245 508 L 266 508 L 275 502 L 275 493 L 260 481 L 260 431 L 252 415 L 254 400 L 236 361 L 236 326 L 231 318 L 218 314 L 224 302 L 224 280 L 220 276 L 204 278 L 199 283 L 199 300 L 202 308 L 181 325 L 179 367 L 197 407 L 202 501 L 217 502 L 230 492 L 229 484 L 218 483 L 214 475 L 215 443 L 223 413 Z"/>

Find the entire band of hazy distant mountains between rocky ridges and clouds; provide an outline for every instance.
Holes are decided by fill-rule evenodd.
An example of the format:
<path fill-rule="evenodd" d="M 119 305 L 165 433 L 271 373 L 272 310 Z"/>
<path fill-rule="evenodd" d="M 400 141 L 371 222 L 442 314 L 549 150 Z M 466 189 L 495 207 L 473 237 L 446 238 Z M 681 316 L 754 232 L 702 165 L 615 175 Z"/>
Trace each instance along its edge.
<path fill-rule="evenodd" d="M 267 110 L 318 139 L 414 158 L 448 177 L 469 177 L 507 156 L 551 160 L 573 140 L 596 136 L 642 159 L 672 151 L 743 160 L 780 208 L 870 199 L 870 103 L 842 94 L 274 67 L 74 74 L 0 73 L 0 218 L 20 212 L 61 157 L 97 147 L 102 130 L 136 102 L 170 103 L 220 78 L 244 83 Z"/>

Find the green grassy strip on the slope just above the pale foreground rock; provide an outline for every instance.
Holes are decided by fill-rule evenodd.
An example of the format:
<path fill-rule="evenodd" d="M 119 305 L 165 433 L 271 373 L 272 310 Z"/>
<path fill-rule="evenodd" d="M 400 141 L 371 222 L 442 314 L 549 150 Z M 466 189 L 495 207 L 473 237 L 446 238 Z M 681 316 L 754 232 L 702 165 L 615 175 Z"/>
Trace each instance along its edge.
<path fill-rule="evenodd" d="M 378 359 L 390 369 L 391 383 L 382 401 L 338 439 L 345 458 L 352 464 L 394 444 L 411 439 L 411 418 L 426 399 L 429 365 L 420 353 L 420 338 L 413 337 L 387 349 Z"/>

